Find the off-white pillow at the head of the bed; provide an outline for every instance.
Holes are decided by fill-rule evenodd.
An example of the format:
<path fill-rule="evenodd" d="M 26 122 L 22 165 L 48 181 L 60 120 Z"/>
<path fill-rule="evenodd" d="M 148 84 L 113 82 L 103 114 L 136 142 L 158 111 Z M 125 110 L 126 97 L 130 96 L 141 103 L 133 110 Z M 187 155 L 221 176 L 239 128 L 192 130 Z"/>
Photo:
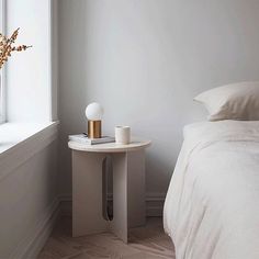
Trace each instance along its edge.
<path fill-rule="evenodd" d="M 194 98 L 207 109 L 209 121 L 259 121 L 259 81 L 217 87 Z"/>

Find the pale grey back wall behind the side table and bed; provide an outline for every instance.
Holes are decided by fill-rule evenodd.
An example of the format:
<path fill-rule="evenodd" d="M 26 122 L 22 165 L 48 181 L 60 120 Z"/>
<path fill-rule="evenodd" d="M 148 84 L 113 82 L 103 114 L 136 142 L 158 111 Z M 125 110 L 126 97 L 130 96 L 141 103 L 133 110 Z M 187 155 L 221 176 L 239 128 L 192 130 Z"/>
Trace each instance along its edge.
<path fill-rule="evenodd" d="M 147 192 L 164 193 L 182 126 L 204 120 L 192 98 L 222 83 L 259 79 L 259 1 L 59 0 L 60 191 L 70 192 L 67 135 L 85 108 L 153 140 Z"/>

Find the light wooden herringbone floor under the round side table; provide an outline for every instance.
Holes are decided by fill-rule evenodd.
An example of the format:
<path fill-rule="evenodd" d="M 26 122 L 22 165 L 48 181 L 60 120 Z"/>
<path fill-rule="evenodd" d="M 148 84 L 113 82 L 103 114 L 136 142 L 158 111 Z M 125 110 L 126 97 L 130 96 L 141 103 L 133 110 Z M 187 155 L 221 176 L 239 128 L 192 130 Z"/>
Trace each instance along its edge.
<path fill-rule="evenodd" d="M 38 259 L 59 258 L 174 259 L 174 252 L 159 217 L 149 218 L 144 227 L 131 229 L 128 245 L 110 233 L 72 238 L 71 218 L 63 217 L 38 256 Z"/>

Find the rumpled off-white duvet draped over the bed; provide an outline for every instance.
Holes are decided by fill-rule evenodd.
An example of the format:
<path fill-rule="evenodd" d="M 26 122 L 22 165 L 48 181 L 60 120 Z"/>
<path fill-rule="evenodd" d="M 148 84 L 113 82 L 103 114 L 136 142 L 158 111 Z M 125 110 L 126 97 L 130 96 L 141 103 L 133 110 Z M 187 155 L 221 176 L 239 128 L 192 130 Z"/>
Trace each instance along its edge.
<path fill-rule="evenodd" d="M 164 209 L 177 259 L 259 259 L 259 122 L 204 122 L 184 142 Z"/>

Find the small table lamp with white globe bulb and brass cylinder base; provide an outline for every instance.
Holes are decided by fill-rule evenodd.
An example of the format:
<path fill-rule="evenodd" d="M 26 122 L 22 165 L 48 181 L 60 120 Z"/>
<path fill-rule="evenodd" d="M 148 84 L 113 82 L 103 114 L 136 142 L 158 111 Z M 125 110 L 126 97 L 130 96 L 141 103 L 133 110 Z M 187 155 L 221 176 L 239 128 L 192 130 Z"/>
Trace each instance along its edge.
<path fill-rule="evenodd" d="M 88 137 L 102 137 L 102 116 L 103 108 L 98 102 L 90 103 L 86 109 L 86 116 L 88 119 Z"/>

